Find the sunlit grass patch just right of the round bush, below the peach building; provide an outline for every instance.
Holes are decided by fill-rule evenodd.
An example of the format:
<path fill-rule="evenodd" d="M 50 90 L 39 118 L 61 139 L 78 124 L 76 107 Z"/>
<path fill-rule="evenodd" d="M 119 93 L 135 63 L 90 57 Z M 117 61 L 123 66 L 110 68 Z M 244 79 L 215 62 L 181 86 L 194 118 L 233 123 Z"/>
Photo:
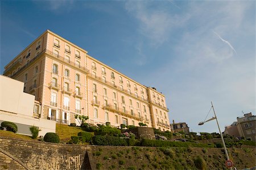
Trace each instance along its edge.
<path fill-rule="evenodd" d="M 80 131 L 82 131 L 81 127 L 72 127 L 56 123 L 56 134 L 59 135 L 60 141 L 62 142 L 68 142 L 68 140 L 71 140 L 71 136 L 77 136 Z"/>

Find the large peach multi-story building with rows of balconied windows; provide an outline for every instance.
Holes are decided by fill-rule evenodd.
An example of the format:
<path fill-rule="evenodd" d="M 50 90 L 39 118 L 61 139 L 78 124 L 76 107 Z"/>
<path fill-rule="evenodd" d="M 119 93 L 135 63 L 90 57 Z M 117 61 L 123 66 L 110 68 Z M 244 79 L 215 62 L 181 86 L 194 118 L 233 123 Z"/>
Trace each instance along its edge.
<path fill-rule="evenodd" d="M 170 131 L 162 93 L 139 84 L 47 30 L 5 67 L 4 75 L 24 82 L 24 92 L 42 104 L 41 117 L 59 123 L 120 124 Z M 77 123 L 77 122 L 76 122 Z"/>

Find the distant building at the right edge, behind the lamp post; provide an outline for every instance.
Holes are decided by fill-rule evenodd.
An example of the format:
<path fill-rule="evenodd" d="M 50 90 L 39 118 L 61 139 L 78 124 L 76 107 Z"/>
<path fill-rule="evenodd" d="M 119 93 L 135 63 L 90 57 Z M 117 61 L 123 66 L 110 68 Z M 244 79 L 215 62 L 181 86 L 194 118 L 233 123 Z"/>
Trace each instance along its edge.
<path fill-rule="evenodd" d="M 237 122 L 233 122 L 232 125 L 226 126 L 224 134 L 235 137 L 244 137 L 248 140 L 256 141 L 256 116 L 247 113 L 243 117 L 237 117 Z"/>

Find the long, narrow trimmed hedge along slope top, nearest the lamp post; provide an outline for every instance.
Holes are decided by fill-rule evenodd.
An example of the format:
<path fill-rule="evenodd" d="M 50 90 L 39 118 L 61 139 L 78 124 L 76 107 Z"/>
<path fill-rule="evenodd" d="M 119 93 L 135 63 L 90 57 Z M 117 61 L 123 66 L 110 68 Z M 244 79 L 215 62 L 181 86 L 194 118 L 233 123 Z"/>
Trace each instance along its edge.
<path fill-rule="evenodd" d="M 214 144 L 205 144 L 205 143 L 191 143 L 191 142 L 172 142 L 168 140 L 151 140 L 151 139 L 142 139 L 141 146 L 150 146 L 150 147 L 209 147 L 213 148 Z"/>

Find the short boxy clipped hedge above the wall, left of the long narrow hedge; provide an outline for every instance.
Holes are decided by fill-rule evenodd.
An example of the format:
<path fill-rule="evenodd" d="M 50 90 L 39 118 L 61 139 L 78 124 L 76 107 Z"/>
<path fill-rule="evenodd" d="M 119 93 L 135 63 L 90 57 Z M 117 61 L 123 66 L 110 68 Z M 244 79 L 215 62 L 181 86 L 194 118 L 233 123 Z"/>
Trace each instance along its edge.
<path fill-rule="evenodd" d="M 125 139 L 116 136 L 93 136 L 92 144 L 100 146 L 127 146 Z"/>

